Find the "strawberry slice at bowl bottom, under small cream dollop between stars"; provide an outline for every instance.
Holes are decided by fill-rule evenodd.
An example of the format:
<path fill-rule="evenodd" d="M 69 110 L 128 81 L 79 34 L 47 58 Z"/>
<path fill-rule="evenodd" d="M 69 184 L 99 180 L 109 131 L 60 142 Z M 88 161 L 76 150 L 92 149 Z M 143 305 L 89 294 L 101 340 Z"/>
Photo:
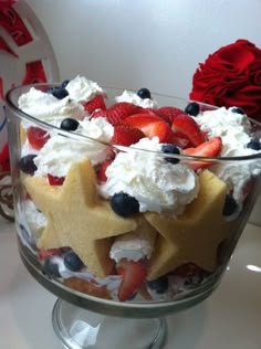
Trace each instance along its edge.
<path fill-rule="evenodd" d="M 118 275 L 123 276 L 123 281 L 118 288 L 118 299 L 127 300 L 132 297 L 135 290 L 139 288 L 147 276 L 147 268 L 143 261 L 121 260 L 116 269 Z"/>

